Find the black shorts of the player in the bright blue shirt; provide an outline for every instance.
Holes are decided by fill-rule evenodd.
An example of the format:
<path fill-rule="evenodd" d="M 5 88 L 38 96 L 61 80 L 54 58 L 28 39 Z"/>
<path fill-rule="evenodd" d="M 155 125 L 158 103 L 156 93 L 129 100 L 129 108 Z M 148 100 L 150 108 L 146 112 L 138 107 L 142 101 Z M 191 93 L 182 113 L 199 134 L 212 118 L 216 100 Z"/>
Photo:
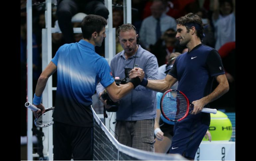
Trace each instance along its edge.
<path fill-rule="evenodd" d="M 54 121 L 53 160 L 93 160 L 93 127 L 72 126 Z"/>

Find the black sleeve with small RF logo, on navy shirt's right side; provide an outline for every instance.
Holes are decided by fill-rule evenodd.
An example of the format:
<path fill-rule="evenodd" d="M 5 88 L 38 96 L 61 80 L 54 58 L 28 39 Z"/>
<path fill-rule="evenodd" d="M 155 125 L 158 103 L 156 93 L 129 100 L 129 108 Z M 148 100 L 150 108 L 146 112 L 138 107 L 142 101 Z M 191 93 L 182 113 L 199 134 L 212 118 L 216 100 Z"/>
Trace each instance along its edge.
<path fill-rule="evenodd" d="M 221 57 L 215 49 L 211 50 L 208 54 L 206 59 L 206 66 L 208 68 L 210 76 L 212 77 L 225 74 Z"/>

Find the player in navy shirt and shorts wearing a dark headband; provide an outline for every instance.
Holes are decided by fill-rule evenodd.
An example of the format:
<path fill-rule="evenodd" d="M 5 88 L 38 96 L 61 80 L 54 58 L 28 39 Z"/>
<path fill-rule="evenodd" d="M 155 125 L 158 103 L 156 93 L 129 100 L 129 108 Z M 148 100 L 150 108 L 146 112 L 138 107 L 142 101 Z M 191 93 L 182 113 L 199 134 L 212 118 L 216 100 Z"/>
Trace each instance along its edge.
<path fill-rule="evenodd" d="M 176 58 L 165 79 L 144 78 L 141 82 L 141 85 L 149 89 L 165 92 L 179 81 L 178 90 L 188 97 L 194 109 L 188 117 L 175 122 L 169 153 L 179 153 L 190 160 L 194 160 L 210 124 L 210 114 L 201 113 L 202 108 L 209 108 L 210 102 L 229 90 L 221 58 L 215 49 L 201 43 L 203 36 L 203 23 L 199 16 L 189 13 L 177 19 L 176 38 L 181 45 L 186 45 L 189 51 Z M 137 76 L 137 70 L 142 69 L 132 69 L 130 78 Z M 212 91 L 213 79 L 216 79 L 218 86 Z"/>

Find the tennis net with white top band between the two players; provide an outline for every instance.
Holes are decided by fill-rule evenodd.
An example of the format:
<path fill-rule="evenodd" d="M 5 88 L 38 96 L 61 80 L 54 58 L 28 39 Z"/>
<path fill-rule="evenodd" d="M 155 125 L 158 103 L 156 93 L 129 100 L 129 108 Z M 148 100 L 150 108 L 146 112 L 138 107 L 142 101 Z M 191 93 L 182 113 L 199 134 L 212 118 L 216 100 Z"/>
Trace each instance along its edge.
<path fill-rule="evenodd" d="M 143 151 L 120 144 L 100 121 L 94 116 L 93 160 L 187 160 L 179 154 L 161 154 Z"/>

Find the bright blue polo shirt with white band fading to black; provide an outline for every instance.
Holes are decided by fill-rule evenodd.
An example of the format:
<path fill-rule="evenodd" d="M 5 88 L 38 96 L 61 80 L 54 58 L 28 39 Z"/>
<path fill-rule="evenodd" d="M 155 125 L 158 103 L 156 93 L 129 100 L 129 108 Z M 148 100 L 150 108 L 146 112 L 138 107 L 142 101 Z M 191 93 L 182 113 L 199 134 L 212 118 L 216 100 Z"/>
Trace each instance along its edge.
<path fill-rule="evenodd" d="M 58 75 L 54 121 L 92 127 L 90 105 L 96 85 L 100 81 L 107 87 L 114 82 L 106 59 L 91 43 L 80 40 L 61 46 L 52 62 Z"/>

